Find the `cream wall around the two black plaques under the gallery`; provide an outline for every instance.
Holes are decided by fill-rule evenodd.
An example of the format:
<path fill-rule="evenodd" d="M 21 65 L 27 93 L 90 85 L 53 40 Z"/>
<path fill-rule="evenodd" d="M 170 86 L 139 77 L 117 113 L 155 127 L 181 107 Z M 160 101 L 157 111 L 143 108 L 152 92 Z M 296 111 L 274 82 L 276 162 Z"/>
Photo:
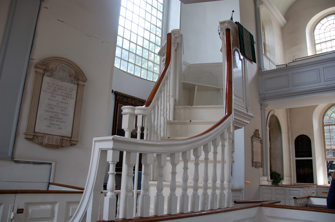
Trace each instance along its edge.
<path fill-rule="evenodd" d="M 316 153 L 320 152 L 320 148 L 316 148 L 314 143 L 313 113 L 316 107 L 317 105 L 289 108 L 294 183 L 296 183 L 294 140 L 299 135 L 306 135 L 312 143 L 314 183 L 317 184 L 317 168 L 321 166 L 316 165 L 315 159 Z"/>

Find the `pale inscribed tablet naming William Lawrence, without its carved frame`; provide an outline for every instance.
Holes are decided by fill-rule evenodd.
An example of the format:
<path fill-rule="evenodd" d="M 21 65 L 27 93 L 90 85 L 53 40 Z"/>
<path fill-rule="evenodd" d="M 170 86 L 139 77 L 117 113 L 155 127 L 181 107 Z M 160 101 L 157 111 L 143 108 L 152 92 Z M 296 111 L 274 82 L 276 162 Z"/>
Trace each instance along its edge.
<path fill-rule="evenodd" d="M 71 137 L 77 85 L 44 76 L 35 132 Z"/>

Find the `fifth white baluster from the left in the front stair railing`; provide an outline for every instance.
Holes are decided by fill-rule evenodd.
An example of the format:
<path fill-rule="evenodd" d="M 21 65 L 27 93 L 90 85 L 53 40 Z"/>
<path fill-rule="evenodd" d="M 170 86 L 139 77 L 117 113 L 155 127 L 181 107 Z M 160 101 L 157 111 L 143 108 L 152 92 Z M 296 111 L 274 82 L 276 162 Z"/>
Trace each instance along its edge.
<path fill-rule="evenodd" d="M 167 197 L 167 214 L 177 214 L 177 202 L 178 197 L 176 196 L 176 174 L 177 165 L 179 164 L 180 153 L 170 154 L 170 164 L 172 166 L 171 170 L 171 182 L 170 182 L 170 195 Z"/>

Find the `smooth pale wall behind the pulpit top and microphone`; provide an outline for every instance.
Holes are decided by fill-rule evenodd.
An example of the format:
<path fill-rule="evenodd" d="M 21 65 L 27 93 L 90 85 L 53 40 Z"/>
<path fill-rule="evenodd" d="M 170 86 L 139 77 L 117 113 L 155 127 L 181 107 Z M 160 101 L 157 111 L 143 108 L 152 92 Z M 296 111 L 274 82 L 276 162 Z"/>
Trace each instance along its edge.
<path fill-rule="evenodd" d="M 240 21 L 238 0 L 183 4 L 180 30 L 184 35 L 184 61 L 194 63 L 222 62 L 221 39 L 217 32 L 219 21 Z"/>

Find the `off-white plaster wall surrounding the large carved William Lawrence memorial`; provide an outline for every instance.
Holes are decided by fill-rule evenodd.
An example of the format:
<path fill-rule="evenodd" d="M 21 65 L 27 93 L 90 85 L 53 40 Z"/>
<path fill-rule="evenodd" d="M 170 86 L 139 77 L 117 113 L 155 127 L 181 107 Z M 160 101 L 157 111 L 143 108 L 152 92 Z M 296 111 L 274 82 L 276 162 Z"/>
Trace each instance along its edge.
<path fill-rule="evenodd" d="M 25 81 L 14 159 L 56 162 L 54 182 L 84 187 L 92 139 L 108 135 L 120 0 L 45 0 L 42 2 L 34 46 Z M 23 138 L 34 65 L 46 57 L 72 60 L 85 73 L 79 142 L 65 148 L 45 148 Z"/>

